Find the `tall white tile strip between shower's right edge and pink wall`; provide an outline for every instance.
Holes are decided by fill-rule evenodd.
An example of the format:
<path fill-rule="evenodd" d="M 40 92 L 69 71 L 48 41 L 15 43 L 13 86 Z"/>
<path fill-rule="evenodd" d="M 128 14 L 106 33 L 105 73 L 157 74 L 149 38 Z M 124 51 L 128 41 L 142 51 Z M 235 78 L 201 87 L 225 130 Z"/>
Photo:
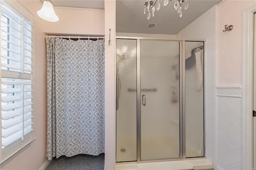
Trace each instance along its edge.
<path fill-rule="evenodd" d="M 213 162 L 213 108 L 216 96 L 213 95 L 216 80 L 216 6 L 208 10 L 194 22 L 177 34 L 181 39 L 201 39 L 206 40 L 206 157 Z"/>

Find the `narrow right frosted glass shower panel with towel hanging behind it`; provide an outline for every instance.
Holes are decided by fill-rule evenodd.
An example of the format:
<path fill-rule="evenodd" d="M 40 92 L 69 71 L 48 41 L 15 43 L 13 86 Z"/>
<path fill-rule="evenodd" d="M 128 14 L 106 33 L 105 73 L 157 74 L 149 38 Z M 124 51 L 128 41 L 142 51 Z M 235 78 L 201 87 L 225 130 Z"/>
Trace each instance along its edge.
<path fill-rule="evenodd" d="M 204 42 L 185 42 L 186 158 L 204 156 Z"/>

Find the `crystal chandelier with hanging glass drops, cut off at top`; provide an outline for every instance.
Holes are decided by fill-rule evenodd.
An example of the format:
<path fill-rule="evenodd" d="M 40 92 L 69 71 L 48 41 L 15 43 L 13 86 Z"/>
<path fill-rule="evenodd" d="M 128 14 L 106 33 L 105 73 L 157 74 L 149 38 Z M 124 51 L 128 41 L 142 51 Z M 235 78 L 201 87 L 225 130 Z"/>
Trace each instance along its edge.
<path fill-rule="evenodd" d="M 170 0 L 172 1 L 172 0 Z M 164 1 L 164 6 L 166 6 L 168 4 L 169 0 L 165 0 Z M 184 2 L 184 0 L 175 0 L 175 3 L 174 3 L 174 8 L 175 10 L 177 10 L 178 13 L 180 13 L 180 17 L 182 17 L 182 7 L 181 7 L 181 4 L 182 2 Z M 150 14 L 150 9 L 151 9 L 151 12 L 152 12 L 152 16 L 154 16 L 154 12 L 155 12 L 155 5 L 156 5 L 156 10 L 160 10 L 160 3 L 159 3 L 159 0 L 147 0 L 145 2 L 145 5 L 144 5 L 144 14 L 146 14 L 146 8 L 148 10 L 148 20 L 151 16 Z M 186 0 L 186 4 L 184 6 L 184 9 L 188 9 L 188 0 Z"/>

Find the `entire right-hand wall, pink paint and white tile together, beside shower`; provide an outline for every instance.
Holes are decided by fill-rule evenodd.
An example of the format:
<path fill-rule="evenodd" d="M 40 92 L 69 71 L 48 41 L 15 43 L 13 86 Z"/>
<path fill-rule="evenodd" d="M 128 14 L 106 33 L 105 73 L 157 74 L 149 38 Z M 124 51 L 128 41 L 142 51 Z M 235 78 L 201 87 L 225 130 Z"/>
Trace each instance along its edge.
<path fill-rule="evenodd" d="M 242 12 L 253 5 L 226 0 L 177 34 L 206 39 L 206 157 L 215 169 L 242 169 Z"/>

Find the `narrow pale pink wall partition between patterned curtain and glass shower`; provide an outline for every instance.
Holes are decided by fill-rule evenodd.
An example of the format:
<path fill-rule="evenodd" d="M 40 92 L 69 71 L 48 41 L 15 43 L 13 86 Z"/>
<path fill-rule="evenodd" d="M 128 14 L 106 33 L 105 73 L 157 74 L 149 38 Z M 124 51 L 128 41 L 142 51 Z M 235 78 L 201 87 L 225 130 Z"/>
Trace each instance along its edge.
<path fill-rule="evenodd" d="M 111 29 L 112 45 L 108 44 Z M 105 0 L 105 170 L 116 162 L 116 0 Z"/>

